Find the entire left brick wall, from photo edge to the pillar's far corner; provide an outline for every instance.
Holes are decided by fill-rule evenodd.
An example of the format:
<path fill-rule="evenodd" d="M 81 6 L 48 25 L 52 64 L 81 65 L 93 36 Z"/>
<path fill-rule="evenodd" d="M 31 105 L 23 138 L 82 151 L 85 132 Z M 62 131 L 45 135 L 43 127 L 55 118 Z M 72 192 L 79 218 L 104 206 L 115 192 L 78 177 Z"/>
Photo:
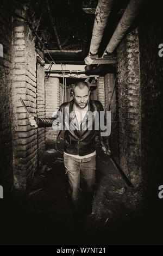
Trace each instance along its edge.
<path fill-rule="evenodd" d="M 22 6 L 15 13 L 26 17 L 27 9 Z M 12 17 L 3 5 L 0 19 L 0 44 L 4 49 L 3 57 L 0 57 L 0 180 L 10 191 L 13 185 L 18 189 L 27 187 L 37 170 L 37 156 L 43 153 L 45 132 L 29 125 L 20 97 L 30 113 L 43 117 L 45 82 L 44 69 L 39 64 L 36 74 L 35 37 L 27 23 Z"/>

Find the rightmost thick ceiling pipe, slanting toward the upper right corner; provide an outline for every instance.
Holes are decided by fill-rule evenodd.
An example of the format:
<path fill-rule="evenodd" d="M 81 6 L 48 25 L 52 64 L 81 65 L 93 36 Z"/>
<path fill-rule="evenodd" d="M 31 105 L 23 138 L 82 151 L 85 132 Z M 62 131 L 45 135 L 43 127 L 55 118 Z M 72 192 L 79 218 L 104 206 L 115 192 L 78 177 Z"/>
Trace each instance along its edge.
<path fill-rule="evenodd" d="M 133 23 L 135 17 L 139 14 L 141 5 L 144 2 L 145 2 L 145 0 L 131 0 L 129 2 L 126 10 L 123 13 L 123 16 L 122 16 L 120 22 L 118 23 L 118 26 L 117 26 L 114 34 L 112 35 L 112 37 L 109 41 L 109 44 L 106 46 L 103 56 L 105 53 L 111 54 L 112 52 L 114 52 L 117 45 L 123 39 L 123 36 L 126 34 L 128 28 Z"/>

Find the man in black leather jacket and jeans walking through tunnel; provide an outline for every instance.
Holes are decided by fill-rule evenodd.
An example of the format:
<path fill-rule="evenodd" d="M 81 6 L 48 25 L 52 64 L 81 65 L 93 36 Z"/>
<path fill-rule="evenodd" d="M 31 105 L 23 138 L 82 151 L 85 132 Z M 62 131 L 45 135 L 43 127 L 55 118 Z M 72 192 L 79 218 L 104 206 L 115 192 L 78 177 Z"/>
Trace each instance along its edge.
<path fill-rule="evenodd" d="M 103 111 L 101 102 L 90 100 L 90 88 L 86 82 L 74 84 L 72 94 L 73 100 L 64 102 L 60 106 L 58 114 L 63 114 L 62 119 L 58 120 L 55 115 L 54 118 L 43 119 L 32 117 L 29 121 L 32 126 L 37 124 L 38 127 L 53 126 L 56 128 L 61 120 L 67 120 L 68 114 L 68 122 L 63 122 L 65 129 L 64 164 L 68 176 L 68 192 L 77 211 L 91 214 L 95 185 L 97 132 L 104 152 L 110 154 L 110 150 L 104 142 L 105 138 L 101 136 L 100 124 L 98 130 L 95 129 L 96 123 L 100 120 L 100 112 Z M 91 115 L 92 113 L 95 115 L 97 113 L 96 117 Z M 92 123 L 89 123 L 90 117 Z"/>

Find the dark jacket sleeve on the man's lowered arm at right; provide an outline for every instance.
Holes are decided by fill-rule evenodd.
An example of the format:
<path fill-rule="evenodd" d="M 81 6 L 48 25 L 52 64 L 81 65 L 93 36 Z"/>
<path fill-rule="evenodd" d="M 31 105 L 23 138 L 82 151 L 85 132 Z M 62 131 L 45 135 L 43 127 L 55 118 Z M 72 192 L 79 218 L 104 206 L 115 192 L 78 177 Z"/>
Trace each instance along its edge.
<path fill-rule="evenodd" d="M 109 136 L 102 136 L 102 134 L 104 132 L 106 132 L 106 117 L 105 117 L 105 114 L 104 114 L 104 108 L 103 108 L 103 105 L 101 102 L 100 103 L 100 106 L 99 106 L 99 109 L 100 109 L 100 113 L 99 113 L 99 132 L 98 132 L 98 137 L 99 137 L 99 142 L 101 143 L 102 147 L 104 147 L 105 149 L 109 149 Z M 100 116 L 103 115 L 104 117 L 104 121 L 102 122 L 101 121 L 101 118 Z M 104 126 L 105 126 L 105 130 L 104 130 Z M 103 128 L 103 129 L 101 129 Z"/>

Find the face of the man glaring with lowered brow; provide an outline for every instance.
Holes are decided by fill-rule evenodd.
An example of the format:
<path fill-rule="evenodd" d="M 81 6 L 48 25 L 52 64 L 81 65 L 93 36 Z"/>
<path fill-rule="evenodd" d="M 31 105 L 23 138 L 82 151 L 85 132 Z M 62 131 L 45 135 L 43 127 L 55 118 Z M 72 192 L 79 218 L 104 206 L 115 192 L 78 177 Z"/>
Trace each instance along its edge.
<path fill-rule="evenodd" d="M 79 108 L 85 108 L 89 103 L 90 92 L 89 89 L 84 86 L 80 89 L 78 86 L 74 89 L 74 101 Z"/>

